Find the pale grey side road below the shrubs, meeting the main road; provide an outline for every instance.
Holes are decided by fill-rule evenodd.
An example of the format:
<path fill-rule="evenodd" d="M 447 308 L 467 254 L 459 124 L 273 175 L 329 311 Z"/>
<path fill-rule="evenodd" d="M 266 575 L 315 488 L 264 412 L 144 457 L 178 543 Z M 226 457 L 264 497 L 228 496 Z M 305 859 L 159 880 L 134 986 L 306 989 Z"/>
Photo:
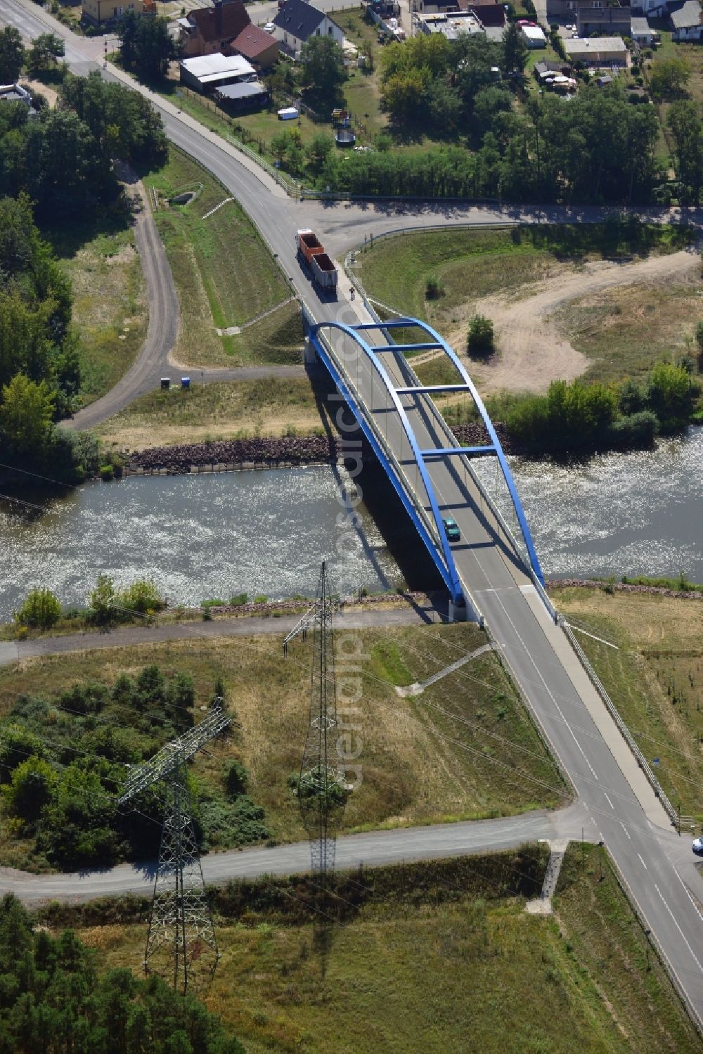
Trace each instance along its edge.
<path fill-rule="evenodd" d="M 337 839 L 336 862 L 340 868 L 378 866 L 404 860 L 433 860 L 515 848 L 539 839 L 581 837 L 583 807 L 570 805 L 556 813 L 540 811 L 529 816 L 501 820 L 443 823 L 427 827 L 403 827 Z M 293 875 L 310 871 L 310 845 L 296 842 L 273 848 L 232 850 L 202 857 L 206 882 L 230 878 L 259 878 L 262 875 Z M 97 897 L 124 893 L 150 895 L 155 865 L 120 864 L 105 871 L 72 875 L 28 875 L 0 867 L 0 893 L 14 893 L 28 904 L 46 900 L 79 903 Z"/>

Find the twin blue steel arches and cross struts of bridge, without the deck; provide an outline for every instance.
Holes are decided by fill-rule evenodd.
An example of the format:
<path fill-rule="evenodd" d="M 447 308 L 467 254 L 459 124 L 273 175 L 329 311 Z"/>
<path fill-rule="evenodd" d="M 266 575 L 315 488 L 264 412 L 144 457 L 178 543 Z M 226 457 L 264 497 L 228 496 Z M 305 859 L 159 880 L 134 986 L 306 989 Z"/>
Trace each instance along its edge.
<path fill-rule="evenodd" d="M 428 334 L 428 336 L 430 337 L 430 339 L 427 340 L 427 341 L 423 341 L 422 344 L 413 344 L 413 345 L 391 345 L 391 344 L 389 344 L 389 345 L 386 345 L 386 346 L 371 346 L 371 345 L 369 345 L 368 340 L 366 340 L 365 337 L 364 337 L 364 335 L 363 335 L 364 332 L 368 331 L 368 330 L 383 330 L 383 331 L 387 331 L 387 330 L 396 329 L 396 328 L 409 328 L 409 327 L 417 327 L 417 328 L 424 330 L 424 332 Z M 415 507 L 414 502 L 412 501 L 412 499 L 410 497 L 410 495 L 407 494 L 405 487 L 403 486 L 401 480 L 397 477 L 396 472 L 395 472 L 393 466 L 391 465 L 391 463 L 388 460 L 385 451 L 383 450 L 383 447 L 376 441 L 376 437 L 375 437 L 375 435 L 373 433 L 373 429 L 370 427 L 370 425 L 369 425 L 369 423 L 368 423 L 368 421 L 366 418 L 366 414 L 364 412 L 364 408 L 360 407 L 360 406 L 358 406 L 357 401 L 356 401 L 353 392 L 350 390 L 349 386 L 347 385 L 345 377 L 343 376 L 343 374 L 338 370 L 338 368 L 337 368 L 336 364 L 334 363 L 334 360 L 330 357 L 330 355 L 329 355 L 329 353 L 328 353 L 328 351 L 327 351 L 324 343 L 319 339 L 318 333 L 319 333 L 319 330 L 321 330 L 321 329 L 335 329 L 335 330 L 338 330 L 341 333 L 345 333 L 348 336 L 350 336 L 351 339 L 355 341 L 355 344 L 359 347 L 359 349 L 363 351 L 363 353 L 369 359 L 372 369 L 375 370 L 376 374 L 382 379 L 382 382 L 383 382 L 383 384 L 384 384 L 384 386 L 385 386 L 385 388 L 386 388 L 386 390 L 387 390 L 387 392 L 388 392 L 388 394 L 390 396 L 390 399 L 391 399 L 391 402 L 392 402 L 392 404 L 393 404 L 393 406 L 394 406 L 394 408 L 395 408 L 395 410 L 396 410 L 396 412 L 398 414 L 398 418 L 399 418 L 399 421 L 402 423 L 402 426 L 403 426 L 403 429 L 404 429 L 404 431 L 406 433 L 408 442 L 410 443 L 410 448 L 412 450 L 413 456 L 414 456 L 415 462 L 417 464 L 417 468 L 418 468 L 418 471 L 421 473 L 421 477 L 423 480 L 423 485 L 425 487 L 425 491 L 426 491 L 426 493 L 428 495 L 428 500 L 429 500 L 429 503 L 430 503 L 430 508 L 431 508 L 431 511 L 432 511 L 432 516 L 433 516 L 433 520 L 434 520 L 434 523 L 435 523 L 435 526 L 436 526 L 436 529 L 437 529 L 437 534 L 438 534 L 438 538 L 440 538 L 440 541 L 441 541 L 442 553 L 440 553 L 440 551 L 437 550 L 436 543 L 435 543 L 434 539 L 432 539 L 432 536 L 428 532 L 428 530 L 427 530 L 427 528 L 426 528 L 426 526 L 425 526 L 422 518 L 417 513 L 417 509 Z M 515 510 L 515 514 L 518 516 L 518 523 L 520 524 L 520 529 L 521 529 L 521 532 L 522 532 L 522 535 L 523 535 L 523 540 L 525 542 L 525 546 L 526 546 L 527 553 L 528 553 L 528 557 L 529 557 L 529 561 L 530 561 L 530 566 L 531 566 L 532 572 L 534 573 L 534 575 L 538 579 L 538 581 L 542 585 L 544 585 L 544 578 L 543 578 L 543 574 L 542 574 L 542 568 L 540 566 L 540 561 L 538 559 L 536 551 L 534 549 L 534 543 L 532 541 L 532 535 L 530 533 L 530 529 L 529 529 L 529 526 L 527 524 L 525 512 L 524 512 L 522 503 L 520 501 L 520 495 L 518 494 L 515 483 L 514 483 L 512 473 L 510 471 L 510 466 L 508 465 L 507 460 L 505 457 L 505 453 L 504 453 L 503 448 L 501 446 L 501 441 L 499 440 L 497 434 L 495 432 L 495 429 L 493 427 L 493 423 L 491 422 L 491 419 L 490 419 L 490 417 L 488 415 L 488 412 L 486 410 L 486 407 L 484 406 L 483 399 L 481 398 L 481 395 L 476 391 L 476 388 L 475 388 L 473 382 L 471 380 L 471 377 L 467 373 L 466 369 L 464 368 L 463 364 L 458 359 L 458 357 L 455 354 L 455 352 L 453 351 L 453 349 L 449 347 L 449 345 L 436 332 L 436 330 L 432 329 L 432 327 L 430 327 L 427 323 L 421 321 L 417 318 L 399 318 L 399 319 L 395 319 L 395 320 L 389 321 L 389 323 L 366 323 L 366 324 L 360 324 L 358 326 L 353 326 L 353 327 L 352 326 L 347 326 L 346 324 L 338 323 L 338 321 L 318 323 L 318 324 L 315 324 L 315 325 L 311 326 L 309 332 L 310 332 L 310 336 L 311 336 L 311 339 L 312 339 L 312 343 L 313 343 L 313 347 L 315 348 L 315 351 L 317 352 L 317 355 L 319 356 L 319 358 L 325 364 L 325 366 L 328 369 L 328 371 L 329 371 L 332 379 L 334 380 L 335 385 L 337 386 L 339 392 L 341 393 L 341 395 L 344 396 L 344 398 L 347 401 L 350 409 L 352 410 L 352 413 L 354 414 L 354 417 L 356 418 L 356 421 L 357 421 L 359 427 L 362 428 L 364 434 L 366 435 L 367 440 L 371 444 L 371 446 L 372 446 L 372 448 L 373 448 L 376 456 L 378 457 L 378 460 L 380 461 L 382 465 L 384 466 L 384 469 L 385 469 L 386 473 L 388 474 L 389 479 L 391 480 L 391 483 L 392 483 L 392 485 L 393 485 L 396 493 L 401 497 L 401 500 L 402 500 L 402 502 L 403 502 L 403 504 L 404 504 L 404 506 L 405 506 L 408 514 L 410 515 L 410 518 L 411 518 L 411 520 L 412 520 L 415 528 L 417 529 L 417 531 L 418 531 L 418 533 L 419 533 L 419 535 L 421 535 L 421 538 L 422 538 L 422 540 L 424 542 L 424 544 L 425 544 L 425 546 L 427 547 L 427 549 L 428 549 L 428 551 L 430 553 L 430 557 L 432 558 L 435 566 L 437 567 L 440 573 L 442 574 L 442 578 L 444 579 L 445 584 L 447 585 L 447 588 L 448 588 L 448 590 L 450 592 L 450 596 L 452 597 L 452 600 L 454 601 L 454 603 L 456 603 L 460 600 L 460 598 L 463 597 L 463 589 L 462 589 L 462 585 L 461 585 L 461 580 L 460 580 L 460 577 L 458 577 L 458 572 L 457 572 L 456 566 L 454 564 L 454 558 L 453 558 L 453 554 L 452 554 L 452 550 L 451 550 L 451 547 L 449 545 L 449 541 L 447 539 L 447 533 L 446 533 L 446 530 L 445 530 L 445 526 L 444 526 L 444 522 L 443 522 L 443 519 L 442 519 L 442 514 L 440 512 L 438 505 L 437 505 L 437 502 L 436 502 L 436 497 L 435 497 L 435 494 L 434 494 L 434 488 L 432 486 L 432 483 L 431 483 L 431 480 L 430 480 L 429 474 L 427 472 L 427 467 L 426 467 L 426 464 L 425 464 L 426 458 L 430 458 L 430 457 L 443 457 L 443 456 L 453 456 L 455 454 L 462 454 L 462 455 L 467 456 L 467 457 L 495 456 L 497 458 L 499 465 L 501 467 L 501 471 L 503 472 L 503 477 L 505 480 L 506 486 L 508 488 L 508 492 L 510 494 L 510 499 L 512 501 L 513 508 Z M 383 365 L 383 363 L 380 360 L 380 355 L 384 352 L 388 352 L 388 351 L 403 353 L 404 351 L 419 350 L 419 349 L 422 349 L 422 350 L 426 350 L 426 349 L 427 350 L 430 350 L 430 349 L 442 350 L 445 353 L 445 355 L 450 359 L 450 362 L 455 367 L 455 369 L 457 370 L 460 376 L 462 377 L 463 384 L 460 384 L 460 385 L 425 385 L 425 386 L 417 385 L 417 386 L 413 386 L 413 387 L 401 387 L 401 388 L 396 388 L 393 385 L 393 383 L 391 382 L 391 378 L 388 375 L 388 372 L 385 369 L 385 367 L 384 367 L 384 365 Z M 408 365 L 411 366 L 411 364 L 408 364 Z M 489 440 L 490 440 L 490 445 L 483 446 L 483 447 L 462 447 L 462 446 L 453 445 L 451 447 L 437 447 L 437 448 L 432 448 L 430 450 L 423 450 L 423 449 L 421 449 L 419 445 L 417 443 L 417 440 L 415 437 L 414 431 L 412 429 L 412 426 L 410 424 L 410 421 L 408 418 L 408 415 L 406 413 L 406 410 L 405 410 L 403 404 L 401 403 L 399 396 L 401 395 L 410 395 L 410 394 L 423 394 L 423 393 L 431 394 L 432 392 L 435 392 L 435 391 L 437 391 L 437 392 L 438 391 L 466 391 L 471 396 L 471 398 L 473 399 L 474 406 L 476 407 L 476 410 L 479 411 L 481 419 L 483 421 L 483 424 L 484 424 L 484 426 L 486 428 L 486 431 L 488 432 L 488 436 L 489 436 Z"/>

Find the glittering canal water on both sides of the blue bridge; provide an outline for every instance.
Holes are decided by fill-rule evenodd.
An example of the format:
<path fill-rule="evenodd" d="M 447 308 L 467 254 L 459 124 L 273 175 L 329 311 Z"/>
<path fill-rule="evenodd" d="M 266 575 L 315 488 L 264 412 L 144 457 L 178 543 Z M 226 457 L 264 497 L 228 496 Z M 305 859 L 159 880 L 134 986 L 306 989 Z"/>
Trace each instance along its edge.
<path fill-rule="evenodd" d="M 703 429 L 653 452 L 511 464 L 546 577 L 683 570 L 703 582 Z M 494 463 L 475 466 L 493 492 Z M 315 467 L 131 476 L 23 493 L 34 505 L 0 500 L 0 620 L 38 585 L 81 606 L 101 570 L 119 586 L 152 578 L 173 605 L 313 596 L 323 559 L 343 592 L 402 585 L 398 562 L 411 586 L 436 584 L 389 488 L 374 484 L 373 506 L 398 562 L 363 504 L 360 526 L 340 526 L 343 488 L 354 494 L 346 473 Z"/>

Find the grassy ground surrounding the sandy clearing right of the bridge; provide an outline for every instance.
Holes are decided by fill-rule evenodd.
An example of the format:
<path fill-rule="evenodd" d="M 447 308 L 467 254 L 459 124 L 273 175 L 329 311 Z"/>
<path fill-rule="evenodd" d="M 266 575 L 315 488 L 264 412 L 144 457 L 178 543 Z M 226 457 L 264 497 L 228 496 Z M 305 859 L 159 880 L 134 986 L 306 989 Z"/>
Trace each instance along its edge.
<path fill-rule="evenodd" d="M 477 310 L 496 320 L 497 359 L 501 359 L 502 321 L 507 323 L 509 357 L 506 370 L 521 362 L 521 341 L 527 340 L 520 331 L 520 301 L 527 301 L 553 284 L 573 281 L 585 264 L 603 258 L 622 257 L 641 260 L 651 254 L 667 254 L 688 245 L 690 235 L 683 229 L 655 229 L 647 226 L 612 222 L 594 227 L 500 228 L 464 230 L 442 233 L 408 234 L 377 240 L 358 254 L 357 274 L 367 292 L 397 311 L 428 320 L 465 352 L 466 329 L 470 316 Z M 610 265 L 612 267 L 612 265 Z M 585 272 L 586 277 L 592 273 Z M 426 299 L 429 278 L 435 278 L 441 295 Z M 586 280 L 586 278 L 584 279 Z M 623 276 L 623 282 L 627 280 Z M 634 279 L 630 278 L 630 282 Z M 574 286 L 579 289 L 579 285 Z M 544 309 L 541 309 L 544 310 Z M 584 295 L 566 304 L 555 314 L 543 315 L 533 305 L 525 304 L 523 330 L 531 331 L 544 321 L 551 327 L 551 343 L 570 339 L 571 355 L 586 356 L 585 376 L 610 382 L 627 375 L 642 375 L 661 358 L 677 358 L 689 349 L 698 318 L 703 317 L 703 287 L 700 274 L 690 270 L 676 284 L 657 280 L 636 285 L 613 286 Z M 555 329 L 554 329 L 555 324 Z M 514 336 L 514 331 L 518 337 Z M 510 335 L 513 334 L 513 335 Z M 532 349 L 541 354 L 534 360 L 543 365 L 544 387 L 552 379 L 549 374 L 550 341 Z M 577 371 L 584 359 L 578 358 Z M 562 365 L 569 368 L 568 356 Z M 559 369 L 559 367 L 556 367 Z M 490 384 L 490 390 L 501 384 L 489 372 L 476 368 L 479 380 Z M 505 372 L 505 371 L 504 371 Z M 532 371 L 533 372 L 533 371 Z M 563 375 L 556 372 L 556 376 Z M 503 385 L 520 383 L 534 387 L 525 370 L 506 374 Z"/>

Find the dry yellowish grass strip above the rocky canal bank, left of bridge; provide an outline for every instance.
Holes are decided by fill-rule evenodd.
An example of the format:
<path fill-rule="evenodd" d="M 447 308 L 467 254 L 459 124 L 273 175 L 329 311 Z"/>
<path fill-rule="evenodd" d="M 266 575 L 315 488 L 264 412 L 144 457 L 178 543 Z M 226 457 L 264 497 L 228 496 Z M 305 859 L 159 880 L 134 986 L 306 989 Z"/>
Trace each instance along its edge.
<path fill-rule="evenodd" d="M 315 394 L 305 377 L 203 387 L 197 375 L 188 391 L 150 392 L 95 429 L 120 450 L 321 430 Z"/>

